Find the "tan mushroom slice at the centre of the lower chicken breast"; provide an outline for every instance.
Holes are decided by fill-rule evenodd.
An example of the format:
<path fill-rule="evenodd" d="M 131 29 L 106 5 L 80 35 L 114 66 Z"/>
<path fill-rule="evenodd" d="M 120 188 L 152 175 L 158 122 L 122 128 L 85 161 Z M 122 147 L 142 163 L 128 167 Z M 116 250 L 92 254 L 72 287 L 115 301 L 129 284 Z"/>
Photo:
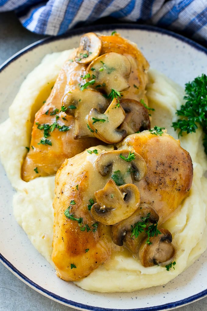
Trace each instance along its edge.
<path fill-rule="evenodd" d="M 114 225 L 133 214 L 140 203 L 138 188 L 128 183 L 117 187 L 112 179 L 95 192 L 97 203 L 91 207 L 93 218 L 104 225 Z"/>

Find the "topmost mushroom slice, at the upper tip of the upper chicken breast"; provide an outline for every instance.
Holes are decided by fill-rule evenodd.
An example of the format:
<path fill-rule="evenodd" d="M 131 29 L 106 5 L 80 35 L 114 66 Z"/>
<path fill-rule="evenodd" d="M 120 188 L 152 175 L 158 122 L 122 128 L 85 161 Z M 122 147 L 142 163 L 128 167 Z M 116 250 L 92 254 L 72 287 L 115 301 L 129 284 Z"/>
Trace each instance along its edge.
<path fill-rule="evenodd" d="M 88 64 L 98 57 L 101 51 L 101 40 L 93 32 L 88 32 L 80 38 L 80 44 L 75 61 L 79 64 Z"/>

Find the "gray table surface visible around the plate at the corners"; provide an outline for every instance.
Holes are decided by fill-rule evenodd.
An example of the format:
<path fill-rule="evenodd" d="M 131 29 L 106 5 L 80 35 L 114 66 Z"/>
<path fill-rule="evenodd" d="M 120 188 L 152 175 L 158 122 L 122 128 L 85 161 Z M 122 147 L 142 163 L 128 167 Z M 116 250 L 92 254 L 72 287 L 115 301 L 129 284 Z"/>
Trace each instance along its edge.
<path fill-rule="evenodd" d="M 24 29 L 13 12 L 0 13 L 0 65 L 20 49 L 42 38 L 44 36 Z M 39 294 L 0 263 L 0 311 L 11 310 L 72 311 L 74 309 Z M 207 297 L 176 310 L 206 311 Z"/>

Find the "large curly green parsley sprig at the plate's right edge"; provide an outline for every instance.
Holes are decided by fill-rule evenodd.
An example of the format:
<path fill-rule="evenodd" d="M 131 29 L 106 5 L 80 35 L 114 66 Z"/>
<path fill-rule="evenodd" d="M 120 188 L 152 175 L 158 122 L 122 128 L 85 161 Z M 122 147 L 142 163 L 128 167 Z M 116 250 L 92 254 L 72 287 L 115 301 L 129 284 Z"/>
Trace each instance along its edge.
<path fill-rule="evenodd" d="M 185 93 L 183 99 L 186 103 L 176 112 L 182 118 L 173 122 L 172 127 L 174 130 L 179 129 L 180 137 L 183 132 L 195 133 L 200 124 L 204 131 L 203 145 L 207 154 L 207 76 L 202 74 L 201 77 L 186 83 Z"/>

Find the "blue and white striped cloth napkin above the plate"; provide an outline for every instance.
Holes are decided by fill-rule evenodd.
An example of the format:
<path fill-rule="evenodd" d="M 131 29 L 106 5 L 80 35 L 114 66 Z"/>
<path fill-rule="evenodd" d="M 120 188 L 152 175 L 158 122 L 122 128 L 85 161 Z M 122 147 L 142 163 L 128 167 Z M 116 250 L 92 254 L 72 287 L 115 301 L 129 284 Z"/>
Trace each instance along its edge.
<path fill-rule="evenodd" d="M 179 31 L 207 44 L 207 0 L 0 0 L 0 12 L 11 10 L 37 34 L 61 35 L 109 16 Z"/>

